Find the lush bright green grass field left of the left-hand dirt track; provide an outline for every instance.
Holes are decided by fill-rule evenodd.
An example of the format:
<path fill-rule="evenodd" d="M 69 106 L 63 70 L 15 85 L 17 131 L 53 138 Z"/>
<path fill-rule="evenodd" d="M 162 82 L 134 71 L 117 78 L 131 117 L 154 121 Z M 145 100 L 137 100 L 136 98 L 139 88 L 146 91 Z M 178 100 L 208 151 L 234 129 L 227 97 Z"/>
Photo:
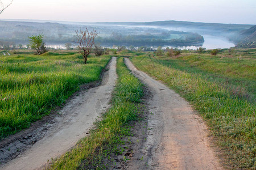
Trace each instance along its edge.
<path fill-rule="evenodd" d="M 75 53 L 0 57 L 0 139 L 27 128 L 55 105 L 100 78 L 110 57 L 91 57 L 84 65 Z"/>

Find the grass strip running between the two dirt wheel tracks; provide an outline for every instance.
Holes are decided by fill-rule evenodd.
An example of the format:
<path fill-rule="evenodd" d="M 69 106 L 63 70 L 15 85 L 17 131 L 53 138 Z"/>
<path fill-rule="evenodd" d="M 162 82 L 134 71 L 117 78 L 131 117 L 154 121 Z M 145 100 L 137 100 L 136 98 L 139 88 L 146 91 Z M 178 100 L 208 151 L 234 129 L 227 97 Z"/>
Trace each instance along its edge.
<path fill-rule="evenodd" d="M 96 123 L 97 129 L 89 137 L 82 139 L 72 151 L 62 155 L 49 169 L 104 169 L 104 156 L 118 151 L 121 135 L 127 133 L 124 128 L 131 120 L 137 119 L 141 112 L 138 105 L 143 95 L 142 84 L 129 73 L 123 58 L 117 61 L 118 82 L 115 87 L 112 107 L 104 113 L 102 120 Z"/>

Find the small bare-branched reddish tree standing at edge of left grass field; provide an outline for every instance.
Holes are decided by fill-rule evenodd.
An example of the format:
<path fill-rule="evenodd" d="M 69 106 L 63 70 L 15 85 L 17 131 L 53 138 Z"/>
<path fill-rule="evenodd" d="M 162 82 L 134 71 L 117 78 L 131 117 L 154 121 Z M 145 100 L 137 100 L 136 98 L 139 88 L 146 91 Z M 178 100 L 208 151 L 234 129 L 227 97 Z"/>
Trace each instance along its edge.
<path fill-rule="evenodd" d="M 90 52 L 92 52 L 94 39 L 98 35 L 97 31 L 93 29 L 93 31 L 89 31 L 87 28 L 83 31 L 82 29 L 76 31 L 76 42 L 77 47 L 80 50 L 80 53 L 84 57 L 84 63 L 86 64 L 87 57 Z"/>

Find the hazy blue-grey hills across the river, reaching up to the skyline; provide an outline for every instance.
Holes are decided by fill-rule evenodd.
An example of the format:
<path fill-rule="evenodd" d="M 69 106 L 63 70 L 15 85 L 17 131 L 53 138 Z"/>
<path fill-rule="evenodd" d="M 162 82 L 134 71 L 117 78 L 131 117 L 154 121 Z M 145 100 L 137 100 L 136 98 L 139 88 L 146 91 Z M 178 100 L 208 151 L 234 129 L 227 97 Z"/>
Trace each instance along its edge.
<path fill-rule="evenodd" d="M 28 44 L 28 36 L 43 34 L 48 45 L 64 45 L 71 42 L 75 30 L 88 27 L 100 32 L 97 43 L 102 46 L 201 46 L 204 35 L 224 37 L 236 44 L 248 37 L 253 25 L 180 22 L 81 23 L 50 22 L 44 20 L 0 20 L 0 47 Z M 248 30 L 247 30 L 248 29 Z M 246 31 L 247 30 L 247 31 Z M 250 34 L 250 35 L 249 35 Z"/>

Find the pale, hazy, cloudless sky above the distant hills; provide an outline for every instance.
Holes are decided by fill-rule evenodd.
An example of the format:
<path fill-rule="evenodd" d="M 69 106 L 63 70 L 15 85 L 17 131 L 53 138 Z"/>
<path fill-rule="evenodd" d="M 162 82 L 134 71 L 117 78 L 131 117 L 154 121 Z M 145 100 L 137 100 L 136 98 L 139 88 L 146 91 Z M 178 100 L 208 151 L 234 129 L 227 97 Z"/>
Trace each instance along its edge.
<path fill-rule="evenodd" d="M 256 0 L 14 0 L 1 19 L 256 24 Z"/>

